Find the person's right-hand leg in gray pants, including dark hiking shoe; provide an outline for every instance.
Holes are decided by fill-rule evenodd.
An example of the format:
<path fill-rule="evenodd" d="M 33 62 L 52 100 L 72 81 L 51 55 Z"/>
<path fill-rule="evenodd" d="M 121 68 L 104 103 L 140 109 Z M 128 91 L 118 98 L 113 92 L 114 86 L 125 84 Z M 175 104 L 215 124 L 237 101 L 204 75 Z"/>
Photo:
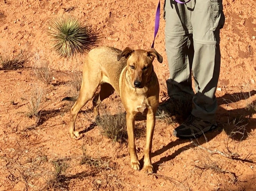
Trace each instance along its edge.
<path fill-rule="evenodd" d="M 215 92 L 220 74 L 220 28 L 224 25 L 221 0 L 197 0 L 191 13 L 194 39 L 193 76 L 196 94 L 192 115 L 173 134 L 188 138 L 217 126 Z"/>

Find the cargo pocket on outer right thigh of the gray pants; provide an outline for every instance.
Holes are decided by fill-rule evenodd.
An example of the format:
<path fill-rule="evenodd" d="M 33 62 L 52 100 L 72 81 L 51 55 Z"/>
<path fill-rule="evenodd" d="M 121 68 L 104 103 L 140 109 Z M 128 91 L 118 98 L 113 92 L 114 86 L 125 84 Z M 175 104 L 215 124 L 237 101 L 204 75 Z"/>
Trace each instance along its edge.
<path fill-rule="evenodd" d="M 225 23 L 225 16 L 223 13 L 222 0 L 211 0 L 211 28 L 210 30 L 215 31 L 221 29 Z"/>

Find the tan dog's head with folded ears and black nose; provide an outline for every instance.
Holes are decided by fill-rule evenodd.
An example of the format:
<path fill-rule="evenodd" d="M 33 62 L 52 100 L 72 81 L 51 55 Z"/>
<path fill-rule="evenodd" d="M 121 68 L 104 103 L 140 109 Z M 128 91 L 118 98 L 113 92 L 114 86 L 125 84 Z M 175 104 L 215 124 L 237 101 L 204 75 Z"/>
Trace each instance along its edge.
<path fill-rule="evenodd" d="M 119 61 L 122 57 L 127 60 L 127 72 L 133 88 L 143 88 L 150 81 L 154 58 L 157 58 L 160 63 L 163 61 L 163 57 L 154 48 L 133 50 L 126 47 L 117 55 L 117 60 Z"/>

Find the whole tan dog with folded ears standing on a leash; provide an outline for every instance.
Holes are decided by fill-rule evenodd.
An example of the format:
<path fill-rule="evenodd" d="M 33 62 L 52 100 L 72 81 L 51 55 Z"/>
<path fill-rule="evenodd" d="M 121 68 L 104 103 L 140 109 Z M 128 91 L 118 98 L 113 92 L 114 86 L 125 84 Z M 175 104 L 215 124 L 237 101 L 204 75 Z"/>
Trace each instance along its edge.
<path fill-rule="evenodd" d="M 78 138 L 80 135 L 75 131 L 75 120 L 79 110 L 94 97 L 94 116 L 97 117 L 101 101 L 117 91 L 126 110 L 131 166 L 135 170 L 140 169 L 134 142 L 135 116 L 138 112 L 147 116 L 144 153 L 144 169 L 147 173 L 153 172 L 150 154 L 159 99 L 158 79 L 152 65 L 155 57 L 162 63 L 162 56 L 154 48 L 145 51 L 127 47 L 121 51 L 111 47 L 98 47 L 91 50 L 85 58 L 80 94 L 70 110 L 69 122 L 70 136 Z M 101 90 L 95 94 L 99 86 Z M 72 99 L 74 97 L 63 98 Z"/>

